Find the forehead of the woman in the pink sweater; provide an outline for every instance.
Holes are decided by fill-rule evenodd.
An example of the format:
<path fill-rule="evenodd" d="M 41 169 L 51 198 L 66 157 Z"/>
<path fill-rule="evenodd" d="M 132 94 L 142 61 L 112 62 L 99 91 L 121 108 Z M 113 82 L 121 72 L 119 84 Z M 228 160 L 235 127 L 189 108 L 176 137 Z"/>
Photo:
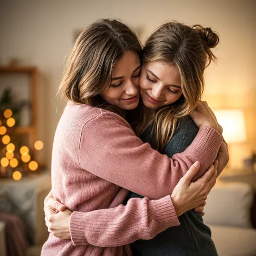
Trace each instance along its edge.
<path fill-rule="evenodd" d="M 134 52 L 125 52 L 123 57 L 114 65 L 113 76 L 124 76 L 133 72 L 140 65 L 139 56 Z"/>

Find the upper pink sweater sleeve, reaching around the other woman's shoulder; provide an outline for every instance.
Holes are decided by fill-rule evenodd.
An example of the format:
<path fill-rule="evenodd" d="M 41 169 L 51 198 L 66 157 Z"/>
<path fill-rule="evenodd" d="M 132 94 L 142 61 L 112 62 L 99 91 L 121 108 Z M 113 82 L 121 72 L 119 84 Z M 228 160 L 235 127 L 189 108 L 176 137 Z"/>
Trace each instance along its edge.
<path fill-rule="evenodd" d="M 103 112 L 84 125 L 78 161 L 81 168 L 149 199 L 170 195 L 180 178 L 196 161 L 200 177 L 214 162 L 222 138 L 202 126 L 193 143 L 172 159 L 143 143 L 117 114 Z"/>

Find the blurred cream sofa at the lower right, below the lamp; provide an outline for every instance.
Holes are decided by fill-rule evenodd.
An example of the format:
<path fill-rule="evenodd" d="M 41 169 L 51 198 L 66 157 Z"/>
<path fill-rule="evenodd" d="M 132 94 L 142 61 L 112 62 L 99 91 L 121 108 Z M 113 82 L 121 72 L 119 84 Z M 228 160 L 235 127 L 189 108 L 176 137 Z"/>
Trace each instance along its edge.
<path fill-rule="evenodd" d="M 256 229 L 251 222 L 252 187 L 242 182 L 217 182 L 204 207 L 219 256 L 255 256 Z"/>

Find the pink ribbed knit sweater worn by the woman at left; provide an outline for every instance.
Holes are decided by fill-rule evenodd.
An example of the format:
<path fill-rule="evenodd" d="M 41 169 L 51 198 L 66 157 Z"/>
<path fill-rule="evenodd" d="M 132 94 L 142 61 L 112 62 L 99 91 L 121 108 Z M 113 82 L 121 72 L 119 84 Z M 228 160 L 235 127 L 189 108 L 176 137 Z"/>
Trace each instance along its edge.
<path fill-rule="evenodd" d="M 127 244 L 179 225 L 170 194 L 194 162 L 201 162 L 195 178 L 207 170 L 221 141 L 216 130 L 201 127 L 170 159 L 143 144 L 117 114 L 69 103 L 54 137 L 52 191 L 73 212 L 72 240 L 50 234 L 41 255 L 131 255 Z M 158 200 L 120 205 L 128 190 Z"/>

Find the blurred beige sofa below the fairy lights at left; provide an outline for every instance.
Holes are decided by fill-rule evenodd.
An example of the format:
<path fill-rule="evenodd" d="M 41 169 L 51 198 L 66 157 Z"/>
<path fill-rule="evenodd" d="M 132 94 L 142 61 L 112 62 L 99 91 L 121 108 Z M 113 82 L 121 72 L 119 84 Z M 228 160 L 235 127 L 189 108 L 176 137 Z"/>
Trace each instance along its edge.
<path fill-rule="evenodd" d="M 18 182 L 11 179 L 0 181 L 0 212 L 14 214 L 24 223 L 29 243 L 27 253 L 24 252 L 26 256 L 40 255 L 41 247 L 48 238 L 43 201 L 50 188 L 50 174 L 47 172 Z M 2 239 L 5 229 L 5 223 L 0 222 L 0 256 L 7 255 L 7 248 L 2 245 L 5 244 Z"/>

